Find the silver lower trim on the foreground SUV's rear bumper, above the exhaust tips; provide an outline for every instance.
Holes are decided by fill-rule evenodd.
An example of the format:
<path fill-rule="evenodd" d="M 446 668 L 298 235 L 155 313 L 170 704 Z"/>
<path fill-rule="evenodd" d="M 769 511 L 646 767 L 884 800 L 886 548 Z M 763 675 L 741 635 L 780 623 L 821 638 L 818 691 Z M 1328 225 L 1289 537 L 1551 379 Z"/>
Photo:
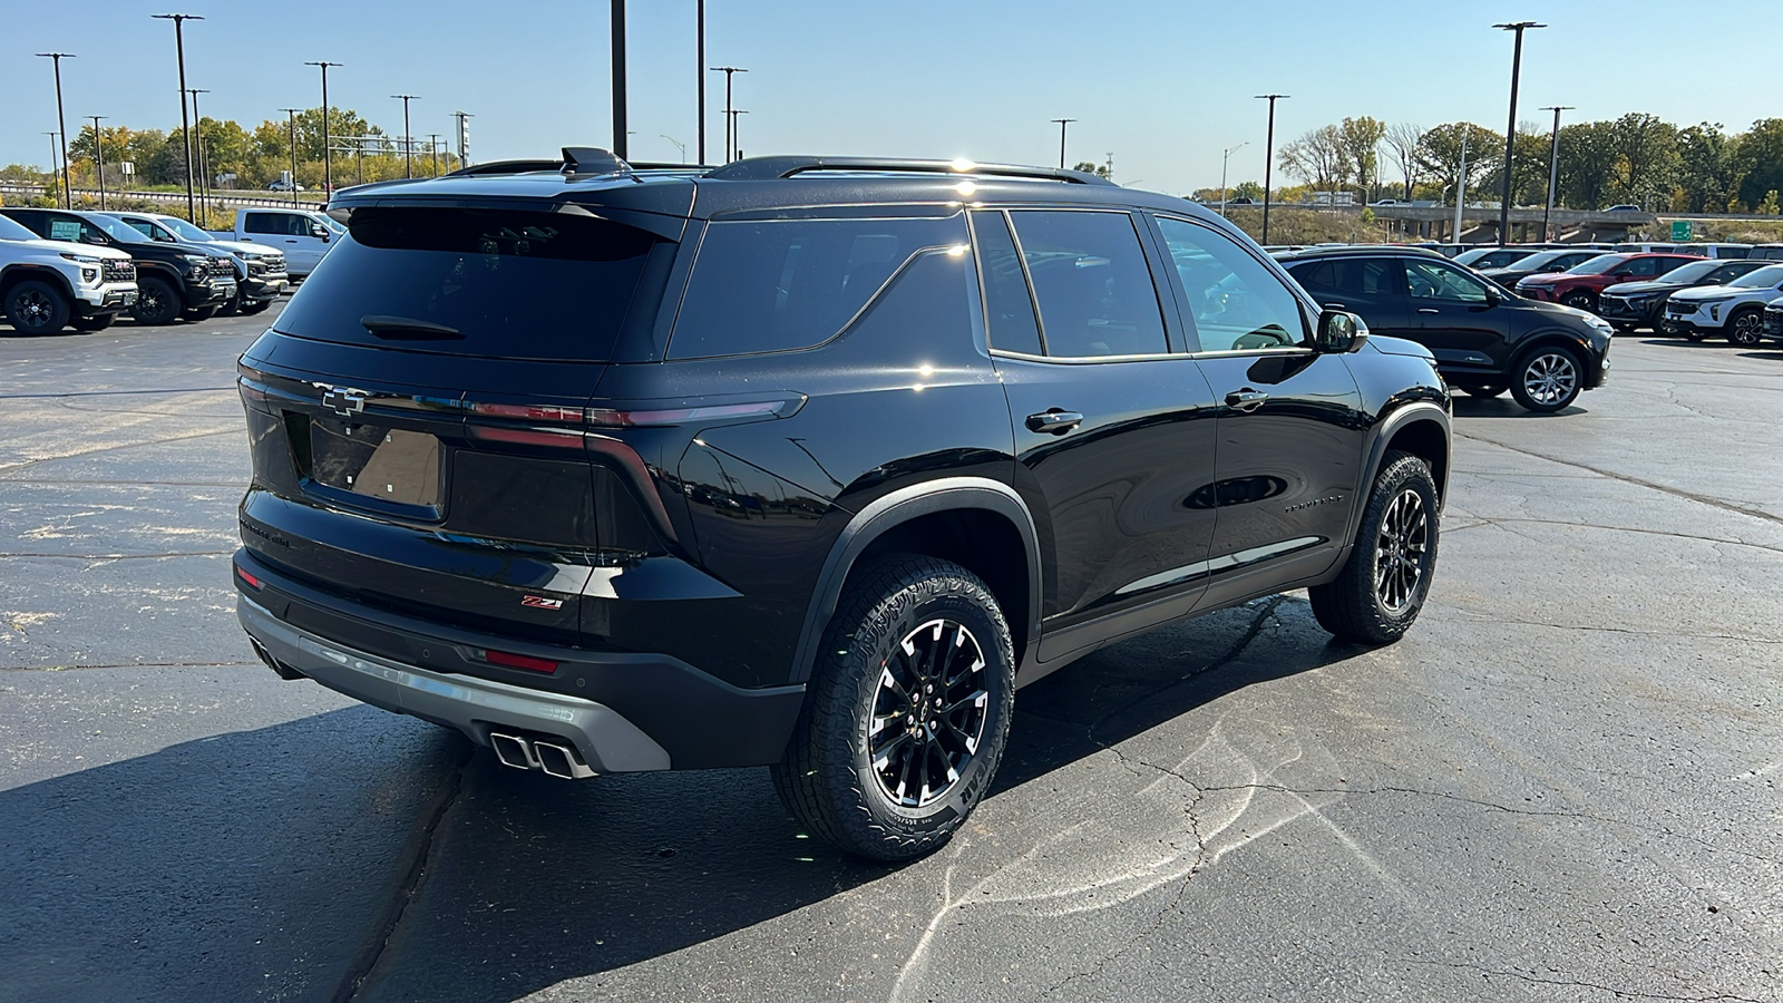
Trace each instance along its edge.
<path fill-rule="evenodd" d="M 538 732 L 571 742 L 596 773 L 669 769 L 669 751 L 612 707 L 474 676 L 456 676 L 355 651 L 291 626 L 237 596 L 242 630 L 273 659 L 325 687 L 385 710 L 424 717 L 487 746 L 490 728 Z"/>

